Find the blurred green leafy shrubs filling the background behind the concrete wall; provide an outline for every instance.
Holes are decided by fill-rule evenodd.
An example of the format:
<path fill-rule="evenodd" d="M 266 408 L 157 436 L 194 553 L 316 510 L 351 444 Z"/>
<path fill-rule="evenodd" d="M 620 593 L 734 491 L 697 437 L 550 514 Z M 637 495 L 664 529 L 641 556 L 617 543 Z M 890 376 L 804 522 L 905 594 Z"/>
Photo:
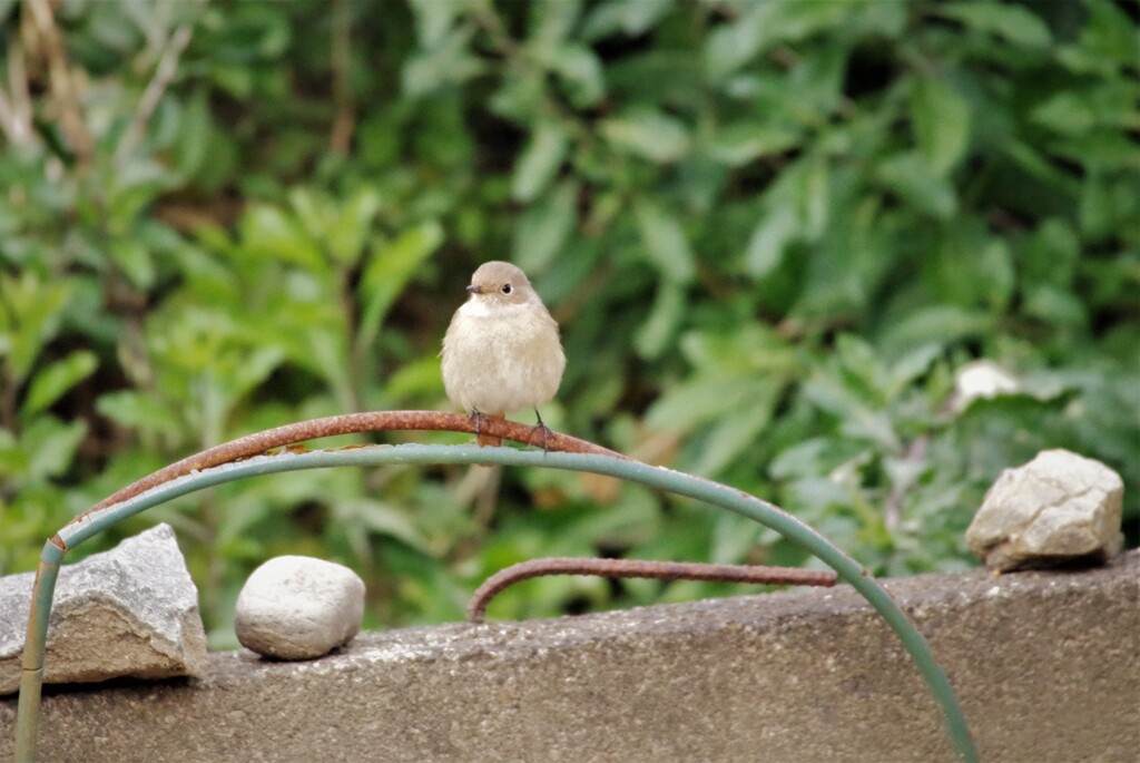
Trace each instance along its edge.
<path fill-rule="evenodd" d="M 974 563 L 1039 449 L 1140 520 L 1138 8 L 902 0 L 0 0 L 0 573 L 173 460 L 450 407 L 488 259 L 569 367 L 547 421 L 769 498 L 877 573 Z M 986 359 L 1016 390 L 955 397 Z M 400 435 L 382 441 L 458 436 Z M 361 441 L 355 439 L 352 441 Z M 188 496 L 215 646 L 266 558 L 342 561 L 368 624 L 457 619 L 549 554 L 801 563 L 602 478 L 381 469 Z M 520 617 L 739 591 L 554 578 Z"/>

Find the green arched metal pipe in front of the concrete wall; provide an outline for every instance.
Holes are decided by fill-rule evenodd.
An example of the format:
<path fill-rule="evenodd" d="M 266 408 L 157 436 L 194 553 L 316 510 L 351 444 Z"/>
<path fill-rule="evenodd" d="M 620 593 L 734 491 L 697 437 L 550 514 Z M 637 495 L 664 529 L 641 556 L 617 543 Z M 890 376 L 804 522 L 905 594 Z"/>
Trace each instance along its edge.
<path fill-rule="evenodd" d="M 16 761 L 28 763 L 35 761 L 36 756 L 39 699 L 43 682 L 43 648 L 47 623 L 51 610 L 56 571 L 63 554 L 68 549 L 115 522 L 152 506 L 195 490 L 245 477 L 329 466 L 472 463 L 545 466 L 547 469 L 606 474 L 638 482 L 650 488 L 697 498 L 742 514 L 776 530 L 836 570 L 840 579 L 858 591 L 887 622 L 911 655 L 930 693 L 938 704 L 951 744 L 959 760 L 966 762 L 978 760 L 977 749 L 970 737 L 966 716 L 958 698 L 954 696 L 945 672 L 935 661 L 930 647 L 922 634 L 868 570 L 825 537 L 774 504 L 700 477 L 596 453 L 556 453 L 516 451 L 507 447 L 477 447 L 474 445 L 416 444 L 374 445 L 303 453 L 283 452 L 274 455 L 253 456 L 244 461 L 185 474 L 119 503 L 100 505 L 62 529 L 44 545 L 40 570 L 36 575 L 33 606 L 28 615 L 27 641 L 24 644 L 24 672 L 21 679 L 16 717 Z"/>

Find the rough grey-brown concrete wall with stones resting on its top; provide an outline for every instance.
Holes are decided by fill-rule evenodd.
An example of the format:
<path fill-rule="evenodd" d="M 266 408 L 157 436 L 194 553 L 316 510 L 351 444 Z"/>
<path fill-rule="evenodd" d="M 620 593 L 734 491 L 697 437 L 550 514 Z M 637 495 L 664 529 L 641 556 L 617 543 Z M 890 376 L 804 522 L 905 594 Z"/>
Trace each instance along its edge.
<path fill-rule="evenodd" d="M 895 581 L 983 760 L 1140 756 L 1140 552 Z M 898 641 L 849 589 L 370 633 L 311 663 L 49 689 L 44 761 L 951 761 Z M 0 758 L 16 700 L 0 701 Z"/>

